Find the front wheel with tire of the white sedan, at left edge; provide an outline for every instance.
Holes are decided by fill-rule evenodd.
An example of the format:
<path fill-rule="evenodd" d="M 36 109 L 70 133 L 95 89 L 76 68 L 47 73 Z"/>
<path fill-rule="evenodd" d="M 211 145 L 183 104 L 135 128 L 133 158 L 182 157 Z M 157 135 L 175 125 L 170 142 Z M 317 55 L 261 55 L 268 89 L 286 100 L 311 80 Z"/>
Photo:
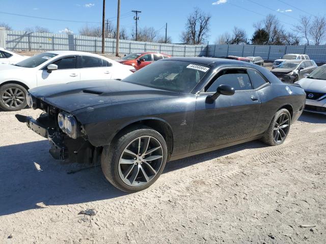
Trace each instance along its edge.
<path fill-rule="evenodd" d="M 27 90 L 15 83 L 0 86 L 0 108 L 5 111 L 18 111 L 25 108 L 26 94 Z"/>

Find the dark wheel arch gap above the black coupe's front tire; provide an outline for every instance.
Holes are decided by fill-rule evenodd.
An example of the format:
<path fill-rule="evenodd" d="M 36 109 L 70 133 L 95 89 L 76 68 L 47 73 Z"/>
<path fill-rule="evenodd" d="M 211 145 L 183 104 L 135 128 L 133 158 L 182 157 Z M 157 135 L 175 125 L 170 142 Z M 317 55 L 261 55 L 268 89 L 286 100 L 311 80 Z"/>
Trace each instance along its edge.
<path fill-rule="evenodd" d="M 121 126 L 121 128 L 117 131 L 117 133 L 113 136 L 111 141 L 115 141 L 119 136 L 126 130 L 137 127 L 137 126 L 147 126 L 152 128 L 153 130 L 157 131 L 162 135 L 165 139 L 167 146 L 168 146 L 168 159 L 173 153 L 173 133 L 171 125 L 164 119 L 157 118 L 157 117 L 145 117 L 139 118 L 137 120 L 131 120 L 128 123 Z"/>

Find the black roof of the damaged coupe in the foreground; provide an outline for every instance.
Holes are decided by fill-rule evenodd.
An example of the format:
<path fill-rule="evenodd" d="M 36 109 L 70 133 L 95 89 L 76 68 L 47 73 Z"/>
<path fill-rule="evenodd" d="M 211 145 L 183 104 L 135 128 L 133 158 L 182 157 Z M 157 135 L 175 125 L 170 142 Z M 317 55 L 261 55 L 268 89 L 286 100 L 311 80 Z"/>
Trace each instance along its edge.
<path fill-rule="evenodd" d="M 197 63 L 203 65 L 210 65 L 212 67 L 218 66 L 243 66 L 243 67 L 256 67 L 256 65 L 250 64 L 248 62 L 243 62 L 239 60 L 226 59 L 226 58 L 217 58 L 217 57 L 169 57 L 160 60 L 175 60 L 175 61 L 184 61 L 190 63 Z"/>

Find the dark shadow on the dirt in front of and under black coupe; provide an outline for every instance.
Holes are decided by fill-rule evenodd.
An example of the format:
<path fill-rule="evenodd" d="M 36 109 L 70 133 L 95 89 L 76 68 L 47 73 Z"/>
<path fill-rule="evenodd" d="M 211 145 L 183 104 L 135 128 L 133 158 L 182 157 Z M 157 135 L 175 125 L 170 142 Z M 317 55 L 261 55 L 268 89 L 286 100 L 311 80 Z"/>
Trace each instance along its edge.
<path fill-rule="evenodd" d="M 169 162 L 164 173 L 248 148 L 253 141 Z M 101 167 L 64 164 L 48 153 L 47 140 L 0 147 L 0 216 L 47 205 L 66 205 L 126 195 L 107 182 Z M 96 165 L 99 166 L 99 165 Z"/>

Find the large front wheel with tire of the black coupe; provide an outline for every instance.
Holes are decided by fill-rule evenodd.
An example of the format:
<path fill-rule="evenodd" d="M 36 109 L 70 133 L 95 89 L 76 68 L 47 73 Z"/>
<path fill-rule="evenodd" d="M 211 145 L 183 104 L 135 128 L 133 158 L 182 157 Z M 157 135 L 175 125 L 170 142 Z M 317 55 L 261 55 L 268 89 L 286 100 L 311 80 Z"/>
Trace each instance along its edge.
<path fill-rule="evenodd" d="M 104 146 L 101 167 L 105 178 L 124 192 L 151 186 L 167 162 L 165 139 L 150 127 L 132 127 L 110 145 Z"/>

